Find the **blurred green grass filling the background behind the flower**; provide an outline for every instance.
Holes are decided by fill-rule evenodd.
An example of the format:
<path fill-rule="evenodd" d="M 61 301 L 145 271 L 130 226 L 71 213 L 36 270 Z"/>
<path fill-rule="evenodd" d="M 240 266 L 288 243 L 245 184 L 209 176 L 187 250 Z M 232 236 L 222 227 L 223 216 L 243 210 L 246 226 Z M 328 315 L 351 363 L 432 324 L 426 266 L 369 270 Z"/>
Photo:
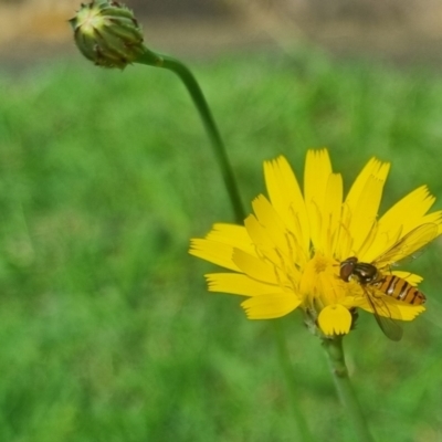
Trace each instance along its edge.
<path fill-rule="evenodd" d="M 371 156 L 392 161 L 382 210 L 422 183 L 441 199 L 438 73 L 303 51 L 194 72 L 248 210 L 264 159 L 284 154 L 302 176 L 306 149 L 323 146 L 347 189 Z M 213 266 L 187 254 L 232 214 L 178 81 L 59 61 L 3 72 L 0 93 L 0 440 L 294 440 L 271 324 L 208 294 Z M 412 265 L 429 312 L 401 344 L 368 315 L 346 338 L 379 441 L 442 438 L 440 249 Z M 299 315 L 282 322 L 317 440 L 355 441 L 319 341 Z"/>

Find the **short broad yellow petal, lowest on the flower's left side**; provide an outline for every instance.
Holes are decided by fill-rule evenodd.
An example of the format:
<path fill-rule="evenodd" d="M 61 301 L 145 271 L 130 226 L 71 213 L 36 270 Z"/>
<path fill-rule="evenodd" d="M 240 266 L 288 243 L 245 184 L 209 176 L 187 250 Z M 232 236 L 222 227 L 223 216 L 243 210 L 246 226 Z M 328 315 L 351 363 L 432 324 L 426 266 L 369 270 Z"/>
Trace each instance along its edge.
<path fill-rule="evenodd" d="M 301 304 L 293 293 L 253 296 L 241 304 L 249 319 L 273 319 L 288 315 Z"/>

